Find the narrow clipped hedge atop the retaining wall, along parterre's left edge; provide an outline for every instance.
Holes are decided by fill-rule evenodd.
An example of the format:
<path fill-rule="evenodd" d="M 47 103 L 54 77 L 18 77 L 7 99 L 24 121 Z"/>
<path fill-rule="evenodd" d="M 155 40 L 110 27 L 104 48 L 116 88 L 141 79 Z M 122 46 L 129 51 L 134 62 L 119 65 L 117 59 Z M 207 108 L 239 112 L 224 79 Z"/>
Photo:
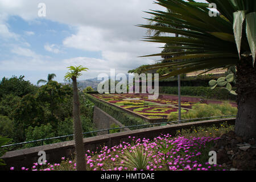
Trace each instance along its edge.
<path fill-rule="evenodd" d="M 90 96 L 89 94 L 85 94 L 85 97 L 88 98 L 93 104 L 109 115 L 111 115 L 113 118 L 117 119 L 117 121 L 121 122 L 125 126 L 134 126 L 134 125 L 144 125 L 149 124 L 148 122 L 144 121 L 142 118 L 134 117 L 133 115 L 127 114 L 125 111 L 122 111 L 121 109 L 118 109 L 117 107 L 111 106 L 109 104 L 106 104 L 97 98 Z M 135 129 L 142 129 L 143 127 L 133 127 L 130 128 L 131 130 Z"/>

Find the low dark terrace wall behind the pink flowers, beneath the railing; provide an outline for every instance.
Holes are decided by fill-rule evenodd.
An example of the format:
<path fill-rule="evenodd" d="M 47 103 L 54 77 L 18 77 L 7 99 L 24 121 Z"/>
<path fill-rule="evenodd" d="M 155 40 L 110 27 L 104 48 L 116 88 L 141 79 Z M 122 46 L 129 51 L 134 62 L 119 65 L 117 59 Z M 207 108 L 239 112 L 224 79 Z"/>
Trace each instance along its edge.
<path fill-rule="evenodd" d="M 129 142 L 130 137 L 135 138 L 150 138 L 154 139 L 160 134 L 171 134 L 175 135 L 177 130 L 180 129 L 191 129 L 192 126 L 210 126 L 210 125 L 220 125 L 221 123 L 228 122 L 232 125 L 235 123 L 235 118 L 229 119 L 216 119 L 208 121 L 198 121 L 189 123 L 180 123 L 175 125 L 150 127 L 147 129 L 125 131 L 122 133 L 114 133 L 101 135 L 97 137 L 84 138 L 85 150 L 96 151 L 97 147 L 102 146 L 115 146 L 122 141 Z M 15 167 L 15 169 L 20 169 L 21 167 L 31 168 L 32 164 L 37 162 L 39 156 L 39 151 L 46 152 L 46 159 L 49 163 L 59 163 L 61 157 L 71 158 L 75 152 L 74 140 L 68 142 L 48 144 L 46 146 L 26 148 L 23 150 L 16 150 L 7 152 L 1 159 L 5 160 L 7 166 L 1 166 L 0 170 L 9 170 L 10 167 Z"/>

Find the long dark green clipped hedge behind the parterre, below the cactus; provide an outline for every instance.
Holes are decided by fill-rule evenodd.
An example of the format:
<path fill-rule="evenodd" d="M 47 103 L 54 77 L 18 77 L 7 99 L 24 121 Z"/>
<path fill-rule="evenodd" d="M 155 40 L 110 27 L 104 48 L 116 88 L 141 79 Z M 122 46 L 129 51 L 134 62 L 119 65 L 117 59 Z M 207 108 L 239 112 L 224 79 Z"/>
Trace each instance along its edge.
<path fill-rule="evenodd" d="M 181 86 L 181 96 L 199 96 L 204 99 L 216 99 L 216 100 L 237 100 L 237 96 L 234 96 L 226 89 L 215 88 L 214 90 L 210 87 L 203 86 Z M 236 90 L 236 88 L 233 88 Z M 162 94 L 178 94 L 177 87 L 160 87 L 159 90 Z"/>

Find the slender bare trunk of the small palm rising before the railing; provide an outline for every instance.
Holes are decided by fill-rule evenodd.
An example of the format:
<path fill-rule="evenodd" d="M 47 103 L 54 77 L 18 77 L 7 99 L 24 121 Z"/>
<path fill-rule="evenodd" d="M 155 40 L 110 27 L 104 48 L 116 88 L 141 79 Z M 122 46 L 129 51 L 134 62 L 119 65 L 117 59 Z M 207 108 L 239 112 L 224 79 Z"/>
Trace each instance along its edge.
<path fill-rule="evenodd" d="M 76 169 L 77 171 L 85 171 L 85 152 L 84 152 L 84 143 L 82 141 L 82 124 L 80 119 L 80 102 L 79 94 L 77 89 L 76 77 L 72 77 L 73 81 L 73 127 L 75 134 L 75 149 L 76 149 Z"/>

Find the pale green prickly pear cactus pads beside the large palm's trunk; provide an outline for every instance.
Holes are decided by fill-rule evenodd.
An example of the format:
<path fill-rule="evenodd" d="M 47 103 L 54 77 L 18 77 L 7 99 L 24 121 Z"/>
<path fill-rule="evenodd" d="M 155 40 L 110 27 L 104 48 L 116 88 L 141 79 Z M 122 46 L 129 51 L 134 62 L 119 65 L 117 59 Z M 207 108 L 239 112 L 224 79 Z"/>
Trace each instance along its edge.
<path fill-rule="evenodd" d="M 209 85 L 211 86 L 210 89 L 215 89 L 217 86 L 221 86 L 223 89 L 229 91 L 230 94 L 237 96 L 236 91 L 232 90 L 232 85 L 230 83 L 234 82 L 234 74 L 230 74 L 226 77 L 218 78 L 218 80 L 210 80 Z"/>

